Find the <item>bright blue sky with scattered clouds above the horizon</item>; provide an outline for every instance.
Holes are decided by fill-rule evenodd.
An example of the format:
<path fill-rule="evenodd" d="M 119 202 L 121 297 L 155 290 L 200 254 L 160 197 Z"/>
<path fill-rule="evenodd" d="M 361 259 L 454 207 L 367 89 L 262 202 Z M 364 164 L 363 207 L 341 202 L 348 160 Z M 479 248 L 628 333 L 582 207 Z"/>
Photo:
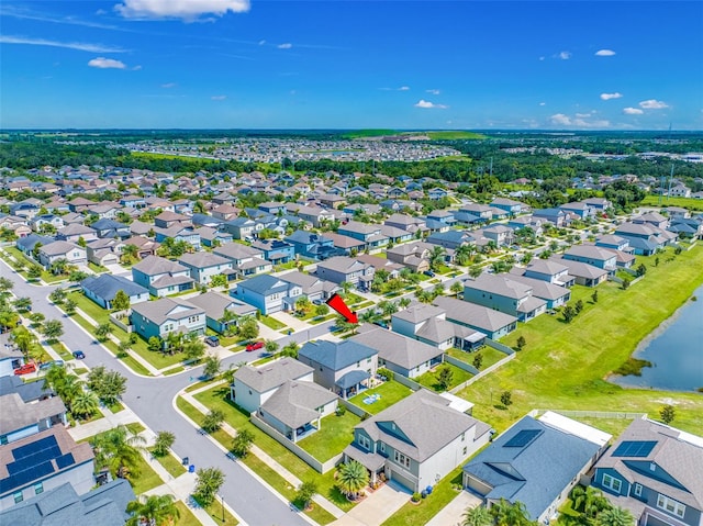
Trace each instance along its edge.
<path fill-rule="evenodd" d="M 3 0 L 0 127 L 703 128 L 703 3 Z"/>

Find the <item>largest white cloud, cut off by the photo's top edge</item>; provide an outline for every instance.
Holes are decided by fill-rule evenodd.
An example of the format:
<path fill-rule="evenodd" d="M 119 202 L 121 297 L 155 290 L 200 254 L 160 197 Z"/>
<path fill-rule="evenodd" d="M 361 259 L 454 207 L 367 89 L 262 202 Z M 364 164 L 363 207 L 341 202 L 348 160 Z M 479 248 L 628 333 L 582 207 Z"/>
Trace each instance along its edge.
<path fill-rule="evenodd" d="M 124 0 L 114 7 L 125 19 L 181 19 L 194 21 L 203 14 L 222 16 L 249 10 L 249 0 Z"/>

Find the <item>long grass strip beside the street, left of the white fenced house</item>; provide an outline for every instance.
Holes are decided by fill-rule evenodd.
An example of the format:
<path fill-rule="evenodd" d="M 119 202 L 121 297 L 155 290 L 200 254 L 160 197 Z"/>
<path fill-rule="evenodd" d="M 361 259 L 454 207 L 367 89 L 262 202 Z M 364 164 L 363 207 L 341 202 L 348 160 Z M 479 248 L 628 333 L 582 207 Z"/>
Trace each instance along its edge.
<path fill-rule="evenodd" d="M 264 451 L 274 457 L 288 471 L 293 473 L 300 480 L 314 480 L 317 482 L 320 494 L 326 496 L 342 510 L 350 510 L 354 504 L 346 500 L 334 489 L 334 471 L 330 471 L 325 475 L 321 475 L 304 461 L 302 461 L 293 452 L 286 449 L 277 440 L 260 430 L 249 422 L 249 415 L 237 407 L 226 398 L 230 393 L 227 385 L 217 385 L 194 395 L 196 400 L 204 404 L 209 409 L 219 409 L 225 414 L 225 421 L 235 429 L 248 429 L 254 435 L 254 443 Z M 182 399 L 178 399 L 179 407 L 181 403 L 187 404 Z M 188 404 L 190 405 L 190 404 Z M 200 414 L 200 413 L 199 413 Z M 193 418 L 196 419 L 196 418 Z M 196 421 L 200 422 L 200 421 Z M 224 432 L 223 432 L 224 433 Z M 231 438 L 227 439 L 225 447 L 230 447 Z M 248 456 L 247 459 L 253 456 Z M 247 460 L 248 461 L 248 460 Z M 280 477 L 280 475 L 279 475 Z M 283 479 L 281 479 L 283 480 Z M 284 480 L 283 480 L 284 482 Z"/>

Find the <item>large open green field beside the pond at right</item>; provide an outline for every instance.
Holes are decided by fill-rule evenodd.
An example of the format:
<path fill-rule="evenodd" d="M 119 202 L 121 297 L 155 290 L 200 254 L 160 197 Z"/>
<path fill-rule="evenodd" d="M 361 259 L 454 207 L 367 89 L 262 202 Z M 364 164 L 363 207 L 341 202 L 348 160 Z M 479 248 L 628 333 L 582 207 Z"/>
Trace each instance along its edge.
<path fill-rule="evenodd" d="M 574 287 L 572 300 L 584 309 L 570 324 L 561 316 L 543 315 L 503 338 L 515 345 L 518 336 L 525 349 L 500 370 L 471 384 L 459 394 L 476 405 L 473 416 L 491 423 L 499 432 L 535 407 L 643 412 L 657 417 L 666 400 L 673 400 L 673 425 L 693 433 L 703 428 L 703 398 L 693 392 L 624 389 L 606 381 L 631 356 L 637 344 L 681 306 L 703 282 L 703 247 L 696 246 L 670 261 L 638 257 L 647 266 L 645 279 L 627 290 L 607 282 L 592 289 Z M 491 404 L 491 394 L 512 392 L 507 411 Z"/>

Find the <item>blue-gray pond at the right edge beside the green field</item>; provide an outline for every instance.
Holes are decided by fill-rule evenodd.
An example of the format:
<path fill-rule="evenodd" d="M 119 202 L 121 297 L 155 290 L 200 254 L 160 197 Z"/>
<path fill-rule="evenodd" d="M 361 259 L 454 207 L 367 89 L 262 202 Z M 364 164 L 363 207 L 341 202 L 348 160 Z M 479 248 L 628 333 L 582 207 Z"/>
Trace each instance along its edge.
<path fill-rule="evenodd" d="M 614 377 L 613 382 L 663 391 L 695 391 L 703 388 L 703 286 L 651 339 L 645 340 L 635 358 L 648 360 L 641 376 Z"/>

